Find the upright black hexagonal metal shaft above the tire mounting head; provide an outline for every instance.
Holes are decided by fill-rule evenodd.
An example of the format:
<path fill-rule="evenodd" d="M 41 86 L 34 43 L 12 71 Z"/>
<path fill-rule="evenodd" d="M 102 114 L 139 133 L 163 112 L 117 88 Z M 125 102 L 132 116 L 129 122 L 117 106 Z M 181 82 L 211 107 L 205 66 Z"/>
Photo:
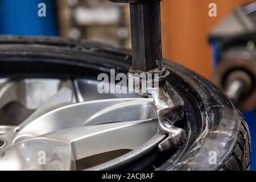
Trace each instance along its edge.
<path fill-rule="evenodd" d="M 160 69 L 162 35 L 159 0 L 110 0 L 130 3 L 133 70 Z"/>

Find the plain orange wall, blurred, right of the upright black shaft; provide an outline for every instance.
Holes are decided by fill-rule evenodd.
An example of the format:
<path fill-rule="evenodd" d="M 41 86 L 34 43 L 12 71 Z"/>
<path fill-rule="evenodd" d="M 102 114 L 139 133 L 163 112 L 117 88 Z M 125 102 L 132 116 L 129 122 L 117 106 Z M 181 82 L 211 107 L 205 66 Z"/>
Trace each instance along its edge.
<path fill-rule="evenodd" d="M 209 17 L 209 3 L 217 17 Z M 164 0 L 162 2 L 163 56 L 210 78 L 212 49 L 208 32 L 232 10 L 248 0 Z"/>

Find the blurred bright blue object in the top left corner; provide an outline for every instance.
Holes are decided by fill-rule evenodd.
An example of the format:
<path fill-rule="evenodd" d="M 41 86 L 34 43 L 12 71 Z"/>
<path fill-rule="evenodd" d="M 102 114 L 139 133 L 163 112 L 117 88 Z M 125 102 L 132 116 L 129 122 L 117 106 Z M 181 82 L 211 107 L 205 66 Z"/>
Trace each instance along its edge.
<path fill-rule="evenodd" d="M 46 4 L 46 16 L 39 17 L 39 3 Z M 1 0 L 0 34 L 58 35 L 56 1 Z"/>

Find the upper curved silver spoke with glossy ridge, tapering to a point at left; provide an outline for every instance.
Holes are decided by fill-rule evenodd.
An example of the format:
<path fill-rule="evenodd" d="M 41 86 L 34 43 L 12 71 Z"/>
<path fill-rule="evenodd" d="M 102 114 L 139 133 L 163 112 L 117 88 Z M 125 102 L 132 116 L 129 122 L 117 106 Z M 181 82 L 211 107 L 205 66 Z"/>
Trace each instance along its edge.
<path fill-rule="evenodd" d="M 119 106 L 121 106 L 120 109 L 118 109 Z M 149 114 L 142 114 L 140 111 L 145 109 L 146 106 L 148 106 Z M 141 108 L 138 109 L 139 107 Z M 122 113 L 122 111 L 127 111 L 127 109 L 133 110 L 133 113 Z M 119 114 L 116 114 L 115 111 L 119 111 Z M 156 118 L 154 114 L 152 100 L 142 98 L 135 101 L 134 99 L 127 98 L 83 102 L 59 107 L 34 120 L 28 118 L 28 121 L 24 121 L 19 126 L 20 131 L 16 133 L 14 142 L 72 127 Z"/>

